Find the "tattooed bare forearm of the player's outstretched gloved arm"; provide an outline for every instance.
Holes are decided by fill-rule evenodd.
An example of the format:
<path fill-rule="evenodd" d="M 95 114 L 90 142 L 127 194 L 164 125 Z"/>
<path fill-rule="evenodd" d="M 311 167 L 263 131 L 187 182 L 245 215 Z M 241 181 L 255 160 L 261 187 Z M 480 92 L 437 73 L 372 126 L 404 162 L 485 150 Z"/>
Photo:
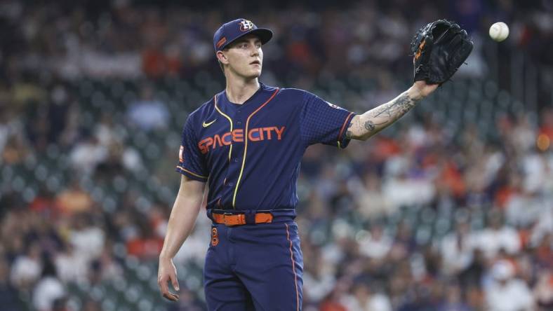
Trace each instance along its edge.
<path fill-rule="evenodd" d="M 411 98 L 408 92 L 404 92 L 386 104 L 355 116 L 347 127 L 347 138 L 368 139 L 413 109 L 417 102 L 418 100 Z"/>

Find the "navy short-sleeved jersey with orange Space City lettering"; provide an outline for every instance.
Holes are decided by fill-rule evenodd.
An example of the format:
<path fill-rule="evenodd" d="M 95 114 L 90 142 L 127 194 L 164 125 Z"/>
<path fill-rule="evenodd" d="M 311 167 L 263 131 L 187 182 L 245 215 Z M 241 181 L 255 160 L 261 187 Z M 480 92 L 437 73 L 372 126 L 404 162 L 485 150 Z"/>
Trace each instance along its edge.
<path fill-rule="evenodd" d="M 345 148 L 353 116 L 305 90 L 261 83 L 244 104 L 223 91 L 189 115 L 176 170 L 208 182 L 208 209 L 294 209 L 305 149 Z"/>

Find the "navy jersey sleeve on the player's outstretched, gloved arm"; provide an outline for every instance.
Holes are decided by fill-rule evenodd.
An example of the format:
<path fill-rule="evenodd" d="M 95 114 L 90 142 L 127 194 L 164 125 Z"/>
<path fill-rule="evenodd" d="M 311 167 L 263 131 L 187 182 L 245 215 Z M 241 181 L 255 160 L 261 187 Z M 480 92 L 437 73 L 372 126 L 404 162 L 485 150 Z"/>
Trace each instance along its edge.
<path fill-rule="evenodd" d="M 349 144 L 346 129 L 354 115 L 317 95 L 305 92 L 300 114 L 302 140 L 307 146 L 321 143 L 345 148 Z"/>

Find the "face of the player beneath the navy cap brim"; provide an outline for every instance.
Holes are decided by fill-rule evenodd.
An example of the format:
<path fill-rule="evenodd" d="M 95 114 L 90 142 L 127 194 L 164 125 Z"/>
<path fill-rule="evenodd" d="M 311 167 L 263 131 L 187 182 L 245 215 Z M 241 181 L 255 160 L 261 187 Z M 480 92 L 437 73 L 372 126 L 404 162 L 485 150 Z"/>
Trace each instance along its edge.
<path fill-rule="evenodd" d="M 249 34 L 233 42 L 225 51 L 229 70 L 244 78 L 258 78 L 261 75 L 263 51 L 257 36 Z"/>

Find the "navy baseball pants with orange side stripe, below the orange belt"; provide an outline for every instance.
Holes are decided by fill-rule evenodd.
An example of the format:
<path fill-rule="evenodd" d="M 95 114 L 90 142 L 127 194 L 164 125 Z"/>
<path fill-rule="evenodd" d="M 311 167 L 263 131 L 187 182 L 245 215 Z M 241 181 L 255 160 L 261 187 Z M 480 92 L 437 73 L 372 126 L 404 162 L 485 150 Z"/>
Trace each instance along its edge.
<path fill-rule="evenodd" d="M 213 224 L 204 267 L 208 310 L 302 309 L 298 225 Z"/>

